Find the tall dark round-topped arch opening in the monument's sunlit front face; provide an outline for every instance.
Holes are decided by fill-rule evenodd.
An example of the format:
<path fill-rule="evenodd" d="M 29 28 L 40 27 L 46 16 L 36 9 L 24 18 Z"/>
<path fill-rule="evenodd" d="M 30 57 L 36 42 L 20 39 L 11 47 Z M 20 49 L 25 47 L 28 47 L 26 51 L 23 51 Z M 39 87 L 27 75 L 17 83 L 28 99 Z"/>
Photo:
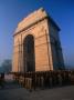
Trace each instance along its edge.
<path fill-rule="evenodd" d="M 24 72 L 35 71 L 34 62 L 34 37 L 28 34 L 23 41 L 23 67 Z"/>

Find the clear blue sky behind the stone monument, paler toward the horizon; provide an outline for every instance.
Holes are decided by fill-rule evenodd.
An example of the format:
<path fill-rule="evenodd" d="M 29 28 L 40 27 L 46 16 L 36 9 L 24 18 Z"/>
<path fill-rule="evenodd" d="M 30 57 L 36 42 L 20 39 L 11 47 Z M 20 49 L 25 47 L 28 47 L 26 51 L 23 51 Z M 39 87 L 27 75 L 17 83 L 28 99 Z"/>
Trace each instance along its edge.
<path fill-rule="evenodd" d="M 18 22 L 41 7 L 61 28 L 64 61 L 74 66 L 74 0 L 0 0 L 0 62 L 12 58 Z"/>

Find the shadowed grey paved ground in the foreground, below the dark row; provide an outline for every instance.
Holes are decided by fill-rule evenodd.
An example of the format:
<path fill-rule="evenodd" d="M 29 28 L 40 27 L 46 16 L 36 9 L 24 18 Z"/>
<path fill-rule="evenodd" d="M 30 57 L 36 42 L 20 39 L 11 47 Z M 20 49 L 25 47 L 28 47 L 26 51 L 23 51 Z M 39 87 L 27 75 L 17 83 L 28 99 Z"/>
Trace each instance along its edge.
<path fill-rule="evenodd" d="M 0 89 L 0 100 L 74 100 L 74 86 L 30 92 L 10 81 Z"/>

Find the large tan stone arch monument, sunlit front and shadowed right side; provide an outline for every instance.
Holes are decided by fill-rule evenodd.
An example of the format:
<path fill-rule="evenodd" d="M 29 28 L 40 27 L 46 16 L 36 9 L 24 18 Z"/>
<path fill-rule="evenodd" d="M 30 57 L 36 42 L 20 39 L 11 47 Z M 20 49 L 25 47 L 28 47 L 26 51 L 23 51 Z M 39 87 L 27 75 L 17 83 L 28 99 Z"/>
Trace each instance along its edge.
<path fill-rule="evenodd" d="M 13 34 L 13 72 L 63 70 L 60 28 L 43 8 L 19 22 Z"/>

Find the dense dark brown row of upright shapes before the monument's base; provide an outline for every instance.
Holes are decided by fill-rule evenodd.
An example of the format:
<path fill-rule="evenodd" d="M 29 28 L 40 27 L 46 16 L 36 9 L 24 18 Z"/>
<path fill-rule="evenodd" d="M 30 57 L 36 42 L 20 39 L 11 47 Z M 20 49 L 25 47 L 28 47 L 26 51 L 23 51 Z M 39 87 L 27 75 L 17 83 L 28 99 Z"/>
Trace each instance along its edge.
<path fill-rule="evenodd" d="M 74 71 L 12 72 L 13 79 L 27 89 L 51 88 L 74 84 Z"/>

